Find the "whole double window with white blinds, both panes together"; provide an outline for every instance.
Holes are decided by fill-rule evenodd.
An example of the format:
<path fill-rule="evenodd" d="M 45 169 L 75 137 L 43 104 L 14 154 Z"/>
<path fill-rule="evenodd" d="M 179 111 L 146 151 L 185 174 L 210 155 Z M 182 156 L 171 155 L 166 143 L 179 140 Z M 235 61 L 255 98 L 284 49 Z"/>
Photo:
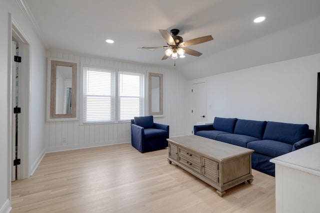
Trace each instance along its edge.
<path fill-rule="evenodd" d="M 83 67 L 84 124 L 129 121 L 143 115 L 143 73 Z"/>

